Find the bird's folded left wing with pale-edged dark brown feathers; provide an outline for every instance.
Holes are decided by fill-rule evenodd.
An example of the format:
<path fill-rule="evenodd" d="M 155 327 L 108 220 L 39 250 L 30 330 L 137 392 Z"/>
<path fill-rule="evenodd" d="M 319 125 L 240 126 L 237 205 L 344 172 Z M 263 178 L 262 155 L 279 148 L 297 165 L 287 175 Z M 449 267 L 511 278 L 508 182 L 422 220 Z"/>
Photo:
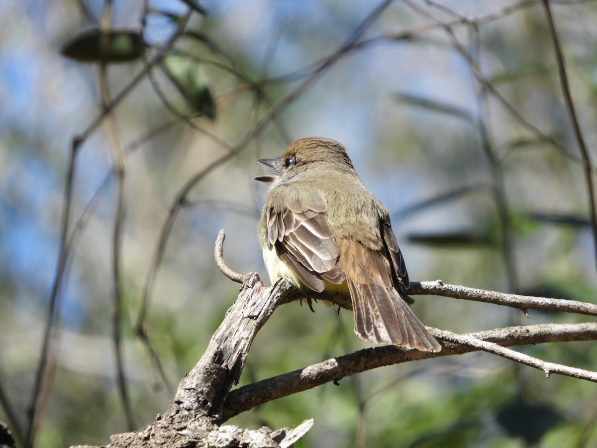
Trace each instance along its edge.
<path fill-rule="evenodd" d="M 296 200 L 284 210 L 266 211 L 266 243 L 275 247 L 306 286 L 318 292 L 325 289 L 324 279 L 336 284 L 344 281 L 326 210 L 324 200 L 309 205 Z"/>

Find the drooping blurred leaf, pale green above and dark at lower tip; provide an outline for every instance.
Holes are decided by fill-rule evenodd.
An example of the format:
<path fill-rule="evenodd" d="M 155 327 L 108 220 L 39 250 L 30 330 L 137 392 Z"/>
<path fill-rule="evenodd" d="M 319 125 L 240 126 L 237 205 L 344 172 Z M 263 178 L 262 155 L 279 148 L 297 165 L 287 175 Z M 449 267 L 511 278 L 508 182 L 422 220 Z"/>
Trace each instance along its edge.
<path fill-rule="evenodd" d="M 201 65 L 182 54 L 168 54 L 162 67 L 194 111 L 208 118 L 216 118 L 216 103 L 211 95 Z"/>

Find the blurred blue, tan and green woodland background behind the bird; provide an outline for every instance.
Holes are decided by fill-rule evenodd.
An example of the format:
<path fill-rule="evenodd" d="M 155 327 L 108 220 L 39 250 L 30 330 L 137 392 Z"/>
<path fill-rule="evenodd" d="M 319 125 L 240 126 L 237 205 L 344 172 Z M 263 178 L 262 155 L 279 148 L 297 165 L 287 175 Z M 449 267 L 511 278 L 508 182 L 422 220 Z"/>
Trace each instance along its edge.
<path fill-rule="evenodd" d="M 0 1 L 0 420 L 13 433 L 30 427 L 48 322 L 35 446 L 106 444 L 166 409 L 238 293 L 216 269 L 217 232 L 230 267 L 267 278 L 255 162 L 304 136 L 349 148 L 392 214 L 411 280 L 596 302 L 586 177 L 542 2 L 189 3 Z M 550 5 L 595 159 L 597 5 Z M 61 54 L 102 17 L 147 48 L 104 72 L 81 61 L 93 59 L 88 49 Z M 125 89 L 106 118 L 102 91 Z M 453 332 L 583 320 L 442 297 L 413 309 Z M 242 382 L 366 346 L 352 314 L 315 311 L 278 309 Z M 595 370 L 591 342 L 521 351 Z M 307 418 L 315 426 L 297 446 L 588 447 L 597 391 L 469 354 L 377 369 L 231 422 L 276 429 Z"/>

